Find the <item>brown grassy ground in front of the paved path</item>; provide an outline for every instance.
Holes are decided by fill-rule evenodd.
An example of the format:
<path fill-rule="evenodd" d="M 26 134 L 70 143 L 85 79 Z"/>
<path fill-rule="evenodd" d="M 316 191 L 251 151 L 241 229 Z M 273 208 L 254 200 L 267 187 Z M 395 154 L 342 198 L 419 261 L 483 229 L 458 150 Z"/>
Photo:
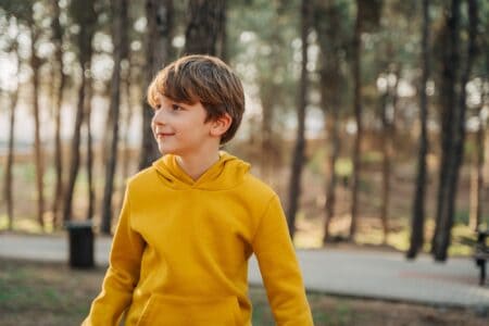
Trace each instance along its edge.
<path fill-rule="evenodd" d="M 0 260 L 3 326 L 79 325 L 98 293 L 104 269 L 74 271 L 64 264 Z M 263 288 L 251 288 L 253 325 L 274 325 Z M 487 325 L 471 310 L 308 293 L 321 325 Z"/>

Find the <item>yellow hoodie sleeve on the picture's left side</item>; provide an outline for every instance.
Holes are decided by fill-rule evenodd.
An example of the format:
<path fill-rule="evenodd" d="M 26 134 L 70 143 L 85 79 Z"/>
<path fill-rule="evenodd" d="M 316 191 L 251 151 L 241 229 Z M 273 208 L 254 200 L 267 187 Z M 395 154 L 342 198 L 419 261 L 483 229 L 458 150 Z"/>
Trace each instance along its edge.
<path fill-rule="evenodd" d="M 112 241 L 110 265 L 103 279 L 102 291 L 93 300 L 90 313 L 82 325 L 118 325 L 118 319 L 129 305 L 133 290 L 139 279 L 143 249 L 143 239 L 130 226 L 130 200 L 129 187 L 127 187 Z"/>

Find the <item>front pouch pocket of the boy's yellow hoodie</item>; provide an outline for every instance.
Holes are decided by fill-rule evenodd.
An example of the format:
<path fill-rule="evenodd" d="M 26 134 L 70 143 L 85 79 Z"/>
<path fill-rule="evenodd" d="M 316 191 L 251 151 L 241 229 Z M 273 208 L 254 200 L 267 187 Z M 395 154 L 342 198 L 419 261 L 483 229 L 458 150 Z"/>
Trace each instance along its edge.
<path fill-rule="evenodd" d="M 138 326 L 241 326 L 236 297 L 196 299 L 153 294 Z"/>

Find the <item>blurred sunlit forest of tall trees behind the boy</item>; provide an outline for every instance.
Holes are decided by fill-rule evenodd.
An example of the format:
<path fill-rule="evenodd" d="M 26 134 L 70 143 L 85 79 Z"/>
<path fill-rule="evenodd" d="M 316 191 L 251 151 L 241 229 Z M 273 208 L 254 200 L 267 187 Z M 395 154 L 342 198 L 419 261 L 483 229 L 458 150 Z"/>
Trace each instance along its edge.
<path fill-rule="evenodd" d="M 0 0 L 0 230 L 111 234 L 160 155 L 149 83 L 205 53 L 247 95 L 224 149 L 298 247 L 467 254 L 489 225 L 488 32 L 480 0 Z"/>

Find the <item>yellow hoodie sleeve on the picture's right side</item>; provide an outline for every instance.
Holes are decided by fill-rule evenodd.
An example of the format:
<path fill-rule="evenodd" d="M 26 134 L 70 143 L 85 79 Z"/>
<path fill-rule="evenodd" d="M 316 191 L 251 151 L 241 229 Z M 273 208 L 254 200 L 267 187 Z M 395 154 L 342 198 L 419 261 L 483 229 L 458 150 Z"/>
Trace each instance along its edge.
<path fill-rule="evenodd" d="M 313 325 L 287 221 L 276 195 L 259 222 L 252 246 L 276 324 Z"/>

